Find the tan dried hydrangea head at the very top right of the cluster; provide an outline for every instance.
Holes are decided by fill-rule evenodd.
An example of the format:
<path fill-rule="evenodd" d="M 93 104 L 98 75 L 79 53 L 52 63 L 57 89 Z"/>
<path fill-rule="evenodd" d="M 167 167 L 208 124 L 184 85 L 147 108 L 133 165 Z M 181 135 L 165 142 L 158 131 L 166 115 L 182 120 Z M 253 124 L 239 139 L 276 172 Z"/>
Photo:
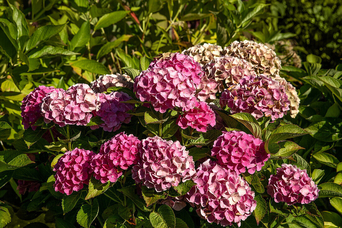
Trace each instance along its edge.
<path fill-rule="evenodd" d="M 281 68 L 281 62 L 271 48 L 251 40 L 234 41 L 224 48 L 223 54 L 250 62 L 257 74 L 279 74 Z"/>

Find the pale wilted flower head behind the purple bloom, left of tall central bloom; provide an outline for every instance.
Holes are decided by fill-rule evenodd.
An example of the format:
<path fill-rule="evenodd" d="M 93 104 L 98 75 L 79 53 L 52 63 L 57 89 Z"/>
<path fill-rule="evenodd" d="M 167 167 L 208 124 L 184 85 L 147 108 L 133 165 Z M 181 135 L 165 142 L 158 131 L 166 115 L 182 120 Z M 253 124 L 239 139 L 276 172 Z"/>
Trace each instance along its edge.
<path fill-rule="evenodd" d="M 90 83 L 90 87 L 95 93 L 103 93 L 107 91 L 109 87 L 121 86 L 129 89 L 133 88 L 133 80 L 127 74 L 106 74 L 101 75 L 95 81 Z"/>

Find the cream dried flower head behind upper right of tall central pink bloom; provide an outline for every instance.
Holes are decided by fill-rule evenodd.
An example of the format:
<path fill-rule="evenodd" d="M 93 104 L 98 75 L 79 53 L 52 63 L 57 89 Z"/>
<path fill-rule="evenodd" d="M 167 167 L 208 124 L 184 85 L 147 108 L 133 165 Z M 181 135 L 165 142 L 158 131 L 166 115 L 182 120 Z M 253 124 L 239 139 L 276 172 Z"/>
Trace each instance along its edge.
<path fill-rule="evenodd" d="M 220 58 L 220 56 L 222 56 L 222 51 L 223 49 L 219 45 L 204 43 L 203 45 L 190 47 L 182 51 L 182 54 L 191 56 L 196 62 L 199 62 L 201 66 L 204 66 L 211 60 Z"/>

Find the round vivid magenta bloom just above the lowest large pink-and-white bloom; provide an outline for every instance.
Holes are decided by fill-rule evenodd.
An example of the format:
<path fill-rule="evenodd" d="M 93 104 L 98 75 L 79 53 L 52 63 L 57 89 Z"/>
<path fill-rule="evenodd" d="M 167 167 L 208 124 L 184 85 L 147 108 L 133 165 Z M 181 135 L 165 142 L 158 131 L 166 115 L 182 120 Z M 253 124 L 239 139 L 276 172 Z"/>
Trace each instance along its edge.
<path fill-rule="evenodd" d="M 253 174 L 261 170 L 271 155 L 266 153 L 261 139 L 243 131 L 228 131 L 214 141 L 211 156 L 237 174 Z"/>

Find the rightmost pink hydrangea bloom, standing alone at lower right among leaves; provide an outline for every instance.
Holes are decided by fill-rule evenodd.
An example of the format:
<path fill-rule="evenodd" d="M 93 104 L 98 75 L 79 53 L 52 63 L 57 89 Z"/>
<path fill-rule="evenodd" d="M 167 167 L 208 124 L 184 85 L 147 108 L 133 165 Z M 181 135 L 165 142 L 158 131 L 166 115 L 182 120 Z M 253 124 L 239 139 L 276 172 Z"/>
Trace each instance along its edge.
<path fill-rule="evenodd" d="M 318 198 L 319 189 L 306 173 L 295 165 L 282 164 L 277 174 L 268 179 L 267 193 L 274 201 L 307 204 Z"/>

